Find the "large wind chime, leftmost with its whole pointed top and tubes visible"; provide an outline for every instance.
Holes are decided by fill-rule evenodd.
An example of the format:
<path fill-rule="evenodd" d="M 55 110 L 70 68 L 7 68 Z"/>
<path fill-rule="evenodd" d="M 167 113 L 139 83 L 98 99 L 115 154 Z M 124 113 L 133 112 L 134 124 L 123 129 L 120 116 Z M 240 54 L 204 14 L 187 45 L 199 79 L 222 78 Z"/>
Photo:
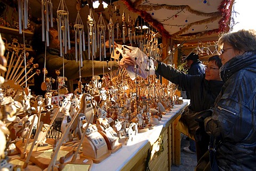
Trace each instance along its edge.
<path fill-rule="evenodd" d="M 63 56 L 63 51 L 65 54 L 67 54 L 67 49 L 70 50 L 69 12 L 64 0 L 60 0 L 57 10 L 57 23 L 60 41 L 60 56 Z"/>

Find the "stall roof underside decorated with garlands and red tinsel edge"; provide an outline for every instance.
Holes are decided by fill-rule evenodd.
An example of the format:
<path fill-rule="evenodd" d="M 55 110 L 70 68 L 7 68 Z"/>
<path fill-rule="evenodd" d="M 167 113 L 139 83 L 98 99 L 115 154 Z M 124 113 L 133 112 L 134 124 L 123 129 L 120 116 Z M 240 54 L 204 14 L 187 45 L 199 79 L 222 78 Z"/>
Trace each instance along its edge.
<path fill-rule="evenodd" d="M 121 0 L 167 38 L 191 40 L 229 31 L 234 0 Z"/>

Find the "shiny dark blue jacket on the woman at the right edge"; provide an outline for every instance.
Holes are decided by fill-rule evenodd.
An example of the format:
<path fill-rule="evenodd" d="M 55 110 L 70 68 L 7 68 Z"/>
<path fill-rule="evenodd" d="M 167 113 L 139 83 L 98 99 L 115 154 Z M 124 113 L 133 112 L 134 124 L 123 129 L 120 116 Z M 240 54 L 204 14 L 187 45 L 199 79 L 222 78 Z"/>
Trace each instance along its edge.
<path fill-rule="evenodd" d="M 217 164 L 220 170 L 256 169 L 256 52 L 231 58 L 221 67 L 225 81 L 205 119 L 205 131 L 220 139 Z"/>

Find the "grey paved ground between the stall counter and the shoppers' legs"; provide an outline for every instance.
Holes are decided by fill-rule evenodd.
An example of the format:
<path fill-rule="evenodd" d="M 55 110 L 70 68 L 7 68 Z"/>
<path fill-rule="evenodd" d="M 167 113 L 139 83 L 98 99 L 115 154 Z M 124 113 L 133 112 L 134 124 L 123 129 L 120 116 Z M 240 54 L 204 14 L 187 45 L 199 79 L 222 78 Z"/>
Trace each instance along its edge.
<path fill-rule="evenodd" d="M 181 134 L 181 148 L 180 148 L 180 166 L 172 165 L 171 170 L 174 171 L 193 171 L 196 167 L 196 154 L 188 153 L 183 151 L 183 147 L 188 147 L 189 141 L 186 140 L 185 136 Z"/>

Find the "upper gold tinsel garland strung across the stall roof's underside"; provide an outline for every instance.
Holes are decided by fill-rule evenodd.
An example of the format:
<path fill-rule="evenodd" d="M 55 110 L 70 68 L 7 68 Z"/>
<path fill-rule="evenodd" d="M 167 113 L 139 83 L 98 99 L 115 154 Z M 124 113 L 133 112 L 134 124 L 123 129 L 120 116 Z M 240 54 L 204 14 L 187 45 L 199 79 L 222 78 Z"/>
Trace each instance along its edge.
<path fill-rule="evenodd" d="M 212 13 L 203 13 L 199 12 L 196 10 L 193 10 L 190 6 L 188 5 L 138 5 L 137 9 L 138 10 L 144 10 L 144 11 L 157 11 L 161 10 L 162 8 L 165 8 L 166 10 L 187 10 L 191 14 L 196 14 L 199 16 L 219 16 L 221 13 L 218 12 L 212 12 Z"/>

